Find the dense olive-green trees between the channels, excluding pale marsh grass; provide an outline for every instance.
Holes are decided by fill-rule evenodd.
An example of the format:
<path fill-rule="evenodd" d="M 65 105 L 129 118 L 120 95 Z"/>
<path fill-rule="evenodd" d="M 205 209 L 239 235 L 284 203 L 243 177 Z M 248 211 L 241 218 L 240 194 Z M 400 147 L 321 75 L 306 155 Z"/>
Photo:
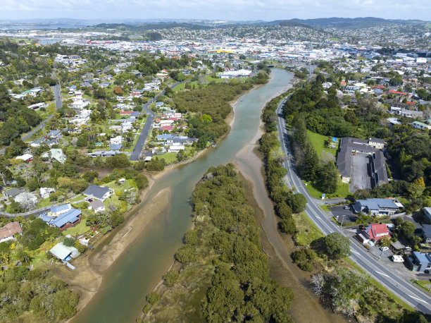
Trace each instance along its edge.
<path fill-rule="evenodd" d="M 235 167 L 227 164 L 208 169 L 194 190 L 192 203 L 196 228 L 185 234 L 185 245 L 176 257 L 182 263 L 193 263 L 205 250 L 205 257 L 213 258 L 215 271 L 201 309 L 204 319 L 292 322 L 287 309 L 294 295 L 269 278 L 254 210 Z M 201 235 L 206 238 L 199 238 Z M 176 277 L 177 272 L 169 272 L 163 278 L 171 285 Z"/>

